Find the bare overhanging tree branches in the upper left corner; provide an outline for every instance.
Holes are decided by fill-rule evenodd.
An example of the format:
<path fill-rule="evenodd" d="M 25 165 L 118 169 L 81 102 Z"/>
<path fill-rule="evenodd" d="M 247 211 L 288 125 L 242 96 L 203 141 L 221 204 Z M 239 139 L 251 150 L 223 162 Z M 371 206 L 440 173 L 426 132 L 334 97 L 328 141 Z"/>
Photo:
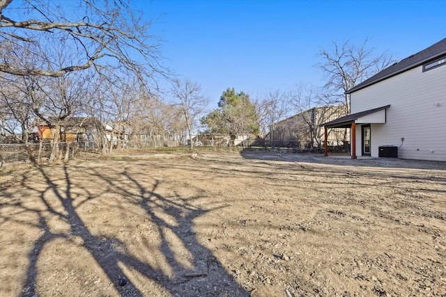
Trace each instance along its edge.
<path fill-rule="evenodd" d="M 61 77 L 90 67 L 98 72 L 123 67 L 140 79 L 153 79 L 165 69 L 160 64 L 160 40 L 149 33 L 151 26 L 124 0 L 63 5 L 49 0 L 0 0 L 0 72 Z M 24 67 L 8 49 L 30 44 L 49 57 L 63 51 L 70 59 L 62 65 Z"/>

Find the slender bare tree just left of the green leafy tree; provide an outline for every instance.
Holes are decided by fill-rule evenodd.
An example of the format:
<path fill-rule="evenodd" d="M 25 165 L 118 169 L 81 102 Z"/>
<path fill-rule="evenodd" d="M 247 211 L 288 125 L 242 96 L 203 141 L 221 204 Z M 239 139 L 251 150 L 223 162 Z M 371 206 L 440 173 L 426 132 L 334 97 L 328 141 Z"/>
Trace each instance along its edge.
<path fill-rule="evenodd" d="M 188 79 L 185 81 L 176 79 L 171 88 L 171 93 L 176 101 L 174 106 L 178 106 L 185 118 L 187 133 L 190 139 L 190 150 L 193 150 L 192 131 L 195 128 L 197 118 L 208 106 L 209 100 L 201 93 L 199 84 L 193 83 Z"/>

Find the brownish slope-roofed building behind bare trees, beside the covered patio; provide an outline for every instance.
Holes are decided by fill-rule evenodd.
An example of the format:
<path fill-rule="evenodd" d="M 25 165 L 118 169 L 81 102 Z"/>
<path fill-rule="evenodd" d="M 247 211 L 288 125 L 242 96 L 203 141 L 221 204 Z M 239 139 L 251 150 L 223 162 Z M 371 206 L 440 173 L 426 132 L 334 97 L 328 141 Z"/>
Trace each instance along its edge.
<path fill-rule="evenodd" d="M 277 147 L 321 147 L 324 141 L 321 123 L 341 115 L 345 115 L 344 106 L 315 107 L 271 125 L 266 140 L 269 145 Z M 331 129 L 327 141 L 330 146 L 344 146 L 349 139 L 346 129 Z"/>

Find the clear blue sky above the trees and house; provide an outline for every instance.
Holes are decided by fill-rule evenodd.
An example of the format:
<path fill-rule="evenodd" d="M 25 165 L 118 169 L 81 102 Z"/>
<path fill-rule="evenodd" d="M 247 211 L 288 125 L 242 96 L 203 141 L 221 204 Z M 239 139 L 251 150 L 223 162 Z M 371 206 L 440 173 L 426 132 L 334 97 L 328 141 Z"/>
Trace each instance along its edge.
<path fill-rule="evenodd" d="M 226 88 L 253 99 L 298 83 L 323 85 L 314 65 L 350 40 L 406 58 L 446 38 L 446 1 L 153 0 L 154 33 L 177 74 L 201 85 L 216 108 Z"/>

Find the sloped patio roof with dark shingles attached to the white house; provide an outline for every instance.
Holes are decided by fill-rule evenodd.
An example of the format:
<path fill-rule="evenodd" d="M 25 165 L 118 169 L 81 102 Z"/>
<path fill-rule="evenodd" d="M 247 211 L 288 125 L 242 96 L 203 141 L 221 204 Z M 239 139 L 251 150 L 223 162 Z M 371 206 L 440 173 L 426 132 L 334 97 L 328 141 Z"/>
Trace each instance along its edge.
<path fill-rule="evenodd" d="M 361 111 L 360 113 L 353 113 L 351 115 L 346 115 L 344 117 L 332 120 L 330 122 L 325 122 L 319 126 L 327 128 L 350 128 L 353 122 L 365 124 L 373 122 L 385 122 L 385 109 L 388 109 L 390 105 L 378 107 L 376 109 L 369 109 L 368 111 Z M 380 114 L 380 111 L 384 113 Z M 368 115 L 377 115 L 374 118 L 368 117 Z"/>

